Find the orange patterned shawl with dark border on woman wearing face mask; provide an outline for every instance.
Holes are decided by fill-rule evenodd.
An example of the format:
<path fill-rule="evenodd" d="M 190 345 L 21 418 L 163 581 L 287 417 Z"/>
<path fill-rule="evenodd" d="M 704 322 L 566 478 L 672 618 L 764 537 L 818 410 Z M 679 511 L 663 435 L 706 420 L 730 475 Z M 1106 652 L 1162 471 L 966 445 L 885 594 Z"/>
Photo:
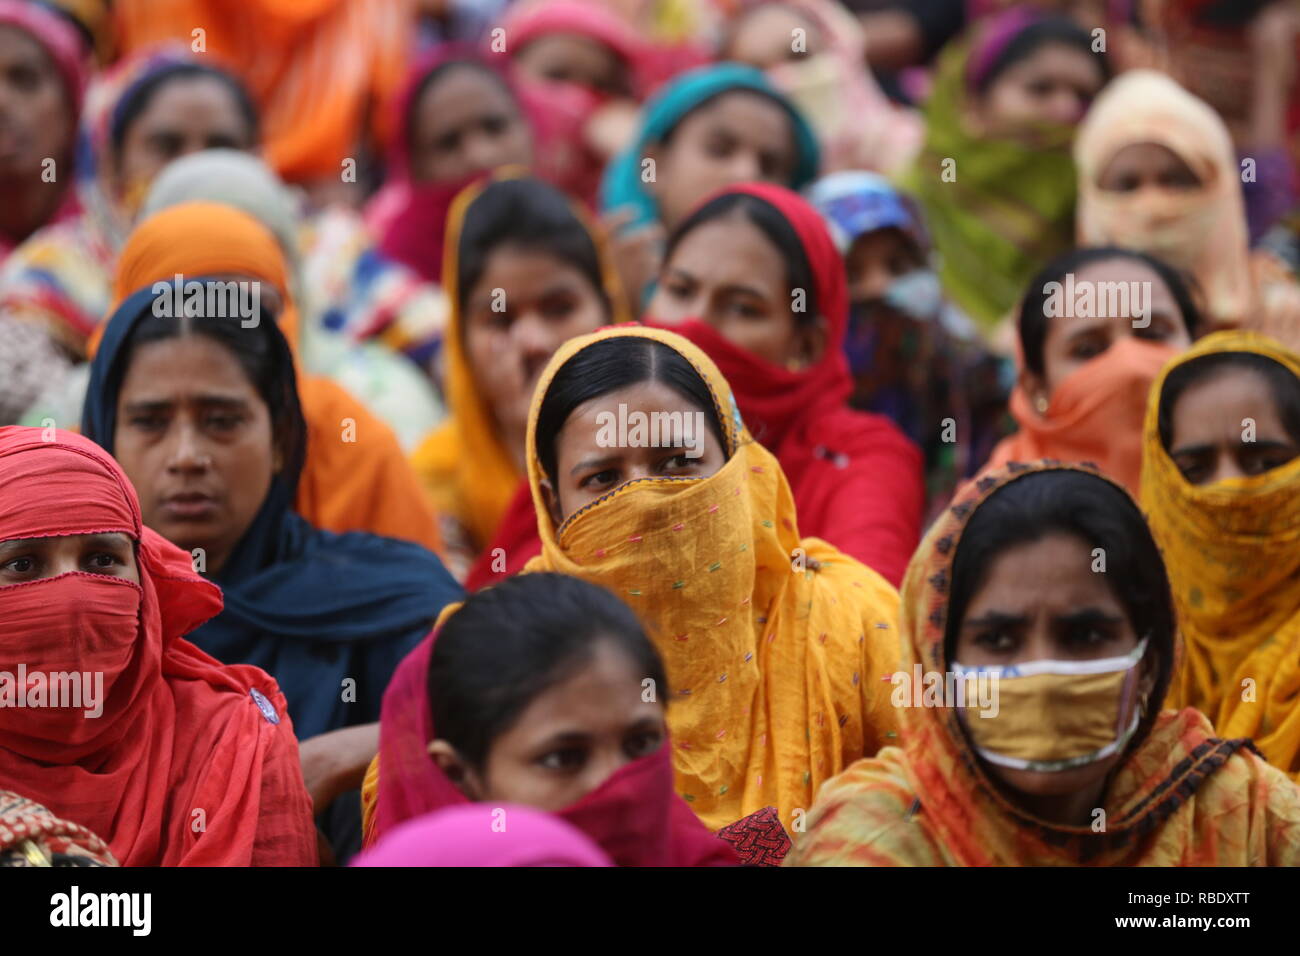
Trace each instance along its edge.
<path fill-rule="evenodd" d="M 902 670 L 942 672 L 962 529 L 997 489 L 1061 464 L 1013 464 L 935 522 L 902 591 Z M 1075 468 L 1096 473 L 1089 468 Z M 1195 710 L 1156 706 L 1114 773 L 1106 829 L 1041 821 L 985 775 L 953 708 L 900 708 L 902 747 L 854 763 L 818 793 L 788 866 L 1173 866 L 1300 864 L 1300 788 Z"/>

